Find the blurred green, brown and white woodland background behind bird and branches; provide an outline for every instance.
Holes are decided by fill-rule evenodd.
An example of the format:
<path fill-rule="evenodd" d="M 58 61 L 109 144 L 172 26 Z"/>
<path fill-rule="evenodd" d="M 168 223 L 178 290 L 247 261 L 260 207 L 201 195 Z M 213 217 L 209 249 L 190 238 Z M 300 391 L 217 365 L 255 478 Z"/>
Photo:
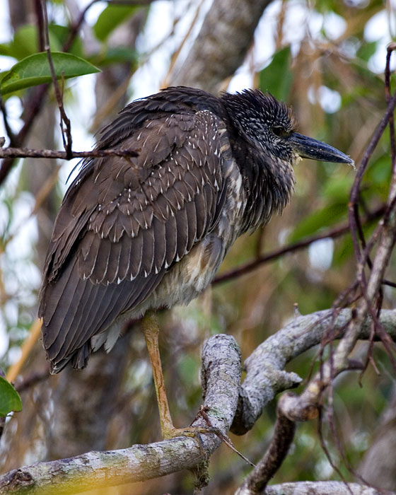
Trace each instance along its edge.
<path fill-rule="evenodd" d="M 39 51 L 37 5 L 0 1 L 0 69 Z M 128 5 L 126 5 L 128 4 Z M 52 50 L 62 50 L 87 7 L 71 52 L 101 69 L 66 81 L 64 105 L 75 151 L 88 151 L 95 132 L 135 98 L 174 84 L 218 93 L 259 87 L 287 101 L 299 131 L 349 154 L 356 164 L 385 111 L 383 71 L 386 46 L 395 39 L 394 1 L 158 0 L 126 2 L 47 1 Z M 88 8 L 89 6 L 89 8 Z M 8 127 L 23 129 L 37 88 L 3 102 Z M 30 148 L 61 149 L 59 113 L 52 89 L 42 98 L 28 135 Z M 8 136 L 1 120 L 1 136 Z M 10 140 L 6 138 L 6 144 Z M 21 359 L 21 344 L 37 316 L 37 292 L 47 245 L 69 175 L 78 161 L 20 160 L 0 188 L 0 367 Z M 392 172 L 388 134 L 376 148 L 363 179 L 361 211 L 371 221 L 388 196 Z M 219 272 L 221 279 L 187 308 L 161 315 L 161 354 L 176 426 L 194 419 L 202 402 L 200 349 L 217 332 L 233 334 L 243 359 L 295 314 L 330 308 L 354 279 L 356 262 L 348 233 L 347 204 L 354 180 L 347 165 L 304 160 L 296 168 L 296 193 L 281 217 L 253 235 L 239 238 Z M 322 237 L 315 240 L 315 237 Z M 313 238 L 268 263 L 262 256 Z M 243 275 L 235 268 L 257 262 Z M 392 258 L 388 278 L 395 274 Z M 384 307 L 395 307 L 395 289 L 385 288 Z M 366 343 L 356 349 L 364 356 Z M 318 349 L 289 364 L 307 378 Z M 396 490 L 396 465 L 386 440 L 396 442 L 394 376 L 381 345 L 375 366 L 363 377 L 343 373 L 336 380 L 334 413 L 347 461 L 363 477 Z M 317 366 L 314 364 L 314 367 Z M 314 368 L 315 369 L 315 368 Z M 139 325 L 129 325 L 115 349 L 91 357 L 88 368 L 48 376 L 41 342 L 25 358 L 16 379 L 23 411 L 8 419 L 0 443 L 0 472 L 36 460 L 64 458 L 89 450 L 124 448 L 161 438 L 156 395 Z M 23 385 L 21 385 L 23 384 Z M 297 390 L 298 392 L 298 390 Z M 245 436 L 231 436 L 252 462 L 264 453 L 272 432 L 272 404 Z M 348 480 L 326 419 L 323 432 L 335 465 Z M 394 448 L 394 447 L 393 447 Z M 374 453 L 374 454 L 373 454 Z M 375 464 L 377 463 L 377 464 Z M 207 493 L 233 493 L 250 472 L 221 445 L 211 458 Z M 298 426 L 293 447 L 274 482 L 340 479 L 323 453 L 317 424 Z M 103 491 L 161 495 L 192 491 L 188 472 Z M 101 492 L 100 492 L 101 493 Z"/>

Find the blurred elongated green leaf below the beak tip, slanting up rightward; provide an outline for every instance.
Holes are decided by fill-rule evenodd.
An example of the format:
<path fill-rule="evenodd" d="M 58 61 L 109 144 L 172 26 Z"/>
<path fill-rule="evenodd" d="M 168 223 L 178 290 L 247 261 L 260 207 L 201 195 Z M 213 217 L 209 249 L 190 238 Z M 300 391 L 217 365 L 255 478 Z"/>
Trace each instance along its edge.
<path fill-rule="evenodd" d="M 325 208 L 315 211 L 298 223 L 289 237 L 289 242 L 294 243 L 297 240 L 320 231 L 323 227 L 334 225 L 346 213 L 347 203 L 345 202 L 330 204 L 329 206 L 325 206 Z"/>

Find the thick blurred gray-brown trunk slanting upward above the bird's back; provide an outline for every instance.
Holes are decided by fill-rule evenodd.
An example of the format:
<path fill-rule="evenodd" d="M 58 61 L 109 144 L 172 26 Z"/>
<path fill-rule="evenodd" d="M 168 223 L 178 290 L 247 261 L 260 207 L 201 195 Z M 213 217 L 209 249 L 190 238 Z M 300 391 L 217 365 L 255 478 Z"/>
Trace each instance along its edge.
<path fill-rule="evenodd" d="M 194 86 L 211 93 L 243 63 L 264 8 L 270 0 L 214 0 L 173 85 Z M 177 69 L 176 69 L 177 70 Z"/>

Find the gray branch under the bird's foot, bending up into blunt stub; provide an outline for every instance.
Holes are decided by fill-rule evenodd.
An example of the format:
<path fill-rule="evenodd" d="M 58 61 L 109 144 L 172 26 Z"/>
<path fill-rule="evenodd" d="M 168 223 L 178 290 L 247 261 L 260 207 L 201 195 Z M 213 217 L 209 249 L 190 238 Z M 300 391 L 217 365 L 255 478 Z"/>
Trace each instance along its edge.
<path fill-rule="evenodd" d="M 223 434 L 228 432 L 235 414 L 240 371 L 240 350 L 233 337 L 214 335 L 206 341 L 202 351 L 204 406 L 211 424 Z M 199 417 L 192 426 L 207 424 Z M 0 494 L 76 494 L 192 469 L 220 443 L 214 433 L 202 434 L 201 439 L 201 445 L 196 438 L 178 437 L 150 445 L 36 462 L 0 477 Z"/>

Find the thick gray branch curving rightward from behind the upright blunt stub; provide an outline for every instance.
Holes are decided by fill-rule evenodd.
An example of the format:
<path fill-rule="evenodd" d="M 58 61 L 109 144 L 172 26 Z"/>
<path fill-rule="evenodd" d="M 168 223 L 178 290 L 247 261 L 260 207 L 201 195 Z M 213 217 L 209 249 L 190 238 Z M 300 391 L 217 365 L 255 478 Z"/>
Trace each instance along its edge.
<path fill-rule="evenodd" d="M 307 349 L 320 344 L 325 332 L 333 328 L 339 332 L 337 338 L 344 334 L 344 327 L 351 319 L 351 310 L 344 309 L 332 320 L 332 310 L 318 311 L 310 315 L 294 318 L 284 328 L 260 344 L 246 359 L 247 372 L 240 388 L 238 409 L 231 431 L 243 435 L 250 430 L 262 414 L 264 407 L 283 390 L 293 388 L 301 383 L 296 373 L 286 373 L 284 367 L 291 359 Z M 383 310 L 380 322 L 390 337 L 396 339 L 396 311 Z M 359 338 L 368 339 L 371 320 L 366 318 L 361 327 Z"/>

